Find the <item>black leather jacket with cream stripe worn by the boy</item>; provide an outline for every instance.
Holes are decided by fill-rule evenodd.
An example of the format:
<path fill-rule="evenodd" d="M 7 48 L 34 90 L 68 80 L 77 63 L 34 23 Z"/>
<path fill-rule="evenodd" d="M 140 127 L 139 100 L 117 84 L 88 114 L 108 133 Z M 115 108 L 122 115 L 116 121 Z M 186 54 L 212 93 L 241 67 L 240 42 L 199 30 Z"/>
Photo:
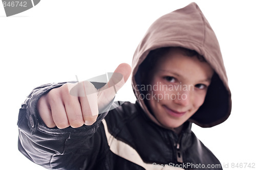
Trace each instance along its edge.
<path fill-rule="evenodd" d="M 99 114 L 92 126 L 47 128 L 37 114 L 36 102 L 41 95 L 61 85 L 35 88 L 19 111 L 18 149 L 31 161 L 49 169 L 69 170 L 172 166 L 222 169 L 219 160 L 191 131 L 191 123 L 186 122 L 177 136 L 156 125 L 137 103 L 125 102 Z"/>

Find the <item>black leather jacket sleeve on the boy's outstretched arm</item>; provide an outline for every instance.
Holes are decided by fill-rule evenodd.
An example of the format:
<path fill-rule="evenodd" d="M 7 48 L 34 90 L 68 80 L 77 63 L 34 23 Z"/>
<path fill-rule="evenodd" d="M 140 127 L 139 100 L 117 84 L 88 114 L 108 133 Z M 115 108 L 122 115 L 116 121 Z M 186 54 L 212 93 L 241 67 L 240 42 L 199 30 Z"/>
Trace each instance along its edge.
<path fill-rule="evenodd" d="M 36 103 L 40 96 L 63 84 L 42 85 L 27 97 L 18 115 L 18 150 L 34 163 L 48 169 L 80 169 L 84 162 L 94 162 L 91 159 L 104 155 L 100 153 L 104 152 L 101 141 L 103 133 L 97 129 L 112 103 L 104 113 L 99 114 L 92 126 L 48 128 L 37 113 Z"/>

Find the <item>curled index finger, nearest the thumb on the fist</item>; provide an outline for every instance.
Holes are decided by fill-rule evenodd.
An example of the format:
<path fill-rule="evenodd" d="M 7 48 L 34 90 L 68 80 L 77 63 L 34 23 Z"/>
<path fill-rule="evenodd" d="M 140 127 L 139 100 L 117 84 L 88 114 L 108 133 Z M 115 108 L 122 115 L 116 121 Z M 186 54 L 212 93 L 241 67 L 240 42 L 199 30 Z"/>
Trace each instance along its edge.
<path fill-rule="evenodd" d="M 89 81 L 83 81 L 80 84 L 83 86 L 84 93 L 86 94 L 84 97 L 79 97 L 84 124 L 92 125 L 98 117 L 97 89 Z"/>

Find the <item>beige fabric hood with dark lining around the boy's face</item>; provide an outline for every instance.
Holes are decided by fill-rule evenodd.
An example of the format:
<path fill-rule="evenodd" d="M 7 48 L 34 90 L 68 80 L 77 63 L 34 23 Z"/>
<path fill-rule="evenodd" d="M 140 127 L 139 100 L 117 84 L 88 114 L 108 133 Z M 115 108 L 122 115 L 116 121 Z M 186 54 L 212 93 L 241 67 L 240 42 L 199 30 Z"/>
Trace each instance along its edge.
<path fill-rule="evenodd" d="M 220 46 L 214 31 L 195 3 L 157 19 L 147 30 L 135 51 L 132 63 L 132 85 L 136 98 L 147 115 L 160 125 L 148 111 L 144 101 L 138 98 L 140 91 L 136 89 L 138 87 L 136 85 L 140 84 L 140 80 L 136 78 L 136 73 L 151 50 L 165 46 L 180 46 L 197 51 L 216 72 L 204 104 L 189 120 L 201 127 L 212 127 L 224 122 L 231 112 L 231 93 Z"/>

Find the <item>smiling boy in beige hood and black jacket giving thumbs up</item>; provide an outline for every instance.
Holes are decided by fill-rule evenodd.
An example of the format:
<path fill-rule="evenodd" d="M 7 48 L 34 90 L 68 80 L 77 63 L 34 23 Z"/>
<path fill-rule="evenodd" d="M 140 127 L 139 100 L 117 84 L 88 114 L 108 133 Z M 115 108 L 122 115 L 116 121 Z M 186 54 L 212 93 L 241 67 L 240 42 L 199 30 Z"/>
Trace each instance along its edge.
<path fill-rule="evenodd" d="M 34 89 L 19 112 L 20 152 L 49 169 L 222 169 L 191 132 L 231 111 L 219 44 L 195 3 L 160 17 L 138 45 L 136 104 L 112 102 L 131 67 L 115 73 L 97 89 L 87 81 Z"/>

